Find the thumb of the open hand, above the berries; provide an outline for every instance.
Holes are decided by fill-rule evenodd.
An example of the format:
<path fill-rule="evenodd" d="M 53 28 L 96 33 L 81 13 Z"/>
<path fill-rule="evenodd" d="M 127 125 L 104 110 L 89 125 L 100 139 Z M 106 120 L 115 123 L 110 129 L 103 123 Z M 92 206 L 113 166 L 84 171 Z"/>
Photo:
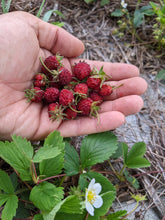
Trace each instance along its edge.
<path fill-rule="evenodd" d="M 84 51 L 83 43 L 63 28 L 40 19 L 36 26 L 40 47 L 66 57 L 77 57 Z"/>

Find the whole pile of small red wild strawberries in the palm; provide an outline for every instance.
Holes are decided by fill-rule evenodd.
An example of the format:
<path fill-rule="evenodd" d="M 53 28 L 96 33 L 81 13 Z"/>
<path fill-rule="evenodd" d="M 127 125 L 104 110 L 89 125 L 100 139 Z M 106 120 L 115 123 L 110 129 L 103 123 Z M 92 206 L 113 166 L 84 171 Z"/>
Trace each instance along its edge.
<path fill-rule="evenodd" d="M 98 116 L 104 96 L 109 96 L 114 87 L 103 84 L 108 76 L 96 68 L 91 69 L 85 61 L 73 66 L 73 74 L 62 65 L 62 56 L 47 57 L 41 73 L 34 77 L 33 85 L 25 90 L 28 101 L 48 105 L 51 120 L 75 119 L 77 116 Z"/>

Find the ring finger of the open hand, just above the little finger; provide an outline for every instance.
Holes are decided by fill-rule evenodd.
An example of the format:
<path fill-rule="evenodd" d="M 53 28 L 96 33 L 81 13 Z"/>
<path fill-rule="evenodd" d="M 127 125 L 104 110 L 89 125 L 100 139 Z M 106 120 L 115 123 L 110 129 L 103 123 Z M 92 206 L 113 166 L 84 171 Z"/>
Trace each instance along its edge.
<path fill-rule="evenodd" d="M 119 111 L 125 116 L 136 114 L 143 107 L 143 100 L 140 96 L 125 96 L 114 101 L 105 101 L 101 104 L 99 113 Z"/>

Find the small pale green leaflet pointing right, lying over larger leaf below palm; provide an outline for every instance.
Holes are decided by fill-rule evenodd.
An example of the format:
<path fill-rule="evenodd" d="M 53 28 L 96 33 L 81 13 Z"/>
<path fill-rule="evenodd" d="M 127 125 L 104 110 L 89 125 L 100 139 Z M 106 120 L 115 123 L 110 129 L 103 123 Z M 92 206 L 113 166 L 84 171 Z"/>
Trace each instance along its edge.
<path fill-rule="evenodd" d="M 48 160 L 57 157 L 61 153 L 60 149 L 52 145 L 41 147 L 33 157 L 34 163 L 40 163 L 43 160 Z"/>

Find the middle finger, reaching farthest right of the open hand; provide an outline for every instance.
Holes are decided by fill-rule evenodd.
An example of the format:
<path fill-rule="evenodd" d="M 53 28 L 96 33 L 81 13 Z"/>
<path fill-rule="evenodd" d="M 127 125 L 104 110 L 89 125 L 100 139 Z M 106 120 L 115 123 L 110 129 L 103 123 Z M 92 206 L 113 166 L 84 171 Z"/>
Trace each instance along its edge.
<path fill-rule="evenodd" d="M 105 100 L 114 100 L 129 95 L 142 95 L 147 90 L 146 81 L 140 77 L 133 77 L 107 84 L 118 88 L 113 89 L 112 94 L 109 97 L 106 97 Z"/>

